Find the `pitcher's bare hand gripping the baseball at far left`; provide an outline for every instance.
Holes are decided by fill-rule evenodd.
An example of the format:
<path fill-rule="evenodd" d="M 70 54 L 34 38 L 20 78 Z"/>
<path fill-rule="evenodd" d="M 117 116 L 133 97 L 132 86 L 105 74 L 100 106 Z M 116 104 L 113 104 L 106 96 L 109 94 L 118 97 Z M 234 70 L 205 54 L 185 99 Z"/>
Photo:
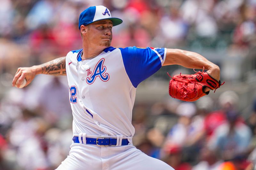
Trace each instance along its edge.
<path fill-rule="evenodd" d="M 24 78 L 26 78 L 27 83 L 25 86 L 27 86 L 36 76 L 36 68 L 33 67 L 20 67 L 18 68 L 13 80 L 12 80 L 12 86 L 14 87 L 15 84 L 17 84 L 17 87 L 20 87 L 21 83 L 23 82 Z"/>

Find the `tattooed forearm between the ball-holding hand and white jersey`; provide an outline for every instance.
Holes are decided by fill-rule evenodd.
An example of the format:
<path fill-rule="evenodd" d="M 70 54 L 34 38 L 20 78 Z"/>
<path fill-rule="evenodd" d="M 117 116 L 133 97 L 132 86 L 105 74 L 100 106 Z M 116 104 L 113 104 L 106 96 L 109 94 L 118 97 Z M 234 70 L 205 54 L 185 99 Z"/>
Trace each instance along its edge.
<path fill-rule="evenodd" d="M 66 57 L 60 57 L 50 62 L 41 64 L 42 74 L 67 75 Z"/>

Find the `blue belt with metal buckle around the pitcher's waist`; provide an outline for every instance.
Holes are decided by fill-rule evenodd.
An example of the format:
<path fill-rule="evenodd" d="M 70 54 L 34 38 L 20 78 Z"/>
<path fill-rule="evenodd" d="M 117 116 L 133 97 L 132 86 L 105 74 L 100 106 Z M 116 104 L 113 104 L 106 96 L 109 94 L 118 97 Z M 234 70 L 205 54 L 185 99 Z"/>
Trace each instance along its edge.
<path fill-rule="evenodd" d="M 73 137 L 72 140 L 75 143 L 80 143 L 78 137 Z M 83 137 L 81 137 L 82 144 L 83 143 Z M 116 139 L 111 137 L 97 137 L 97 138 L 90 138 L 86 137 L 86 144 L 96 144 L 98 146 L 111 146 L 116 145 Z M 122 145 L 128 145 L 129 141 L 128 139 L 122 139 Z"/>

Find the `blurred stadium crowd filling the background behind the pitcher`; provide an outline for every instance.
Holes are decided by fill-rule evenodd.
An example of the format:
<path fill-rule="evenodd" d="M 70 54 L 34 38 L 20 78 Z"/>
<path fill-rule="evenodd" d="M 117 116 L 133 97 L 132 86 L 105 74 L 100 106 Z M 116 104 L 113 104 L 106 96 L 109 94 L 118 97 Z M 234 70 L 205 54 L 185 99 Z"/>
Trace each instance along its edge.
<path fill-rule="evenodd" d="M 112 46 L 181 48 L 218 64 L 226 83 L 192 103 L 168 96 L 165 66 L 137 89 L 134 145 L 176 170 L 255 169 L 256 0 L 1 0 L 0 169 L 51 170 L 69 152 L 65 76 L 11 87 L 18 67 L 82 48 L 79 14 L 104 5 L 123 19 Z M 192 71 L 191 71 L 192 70 Z"/>

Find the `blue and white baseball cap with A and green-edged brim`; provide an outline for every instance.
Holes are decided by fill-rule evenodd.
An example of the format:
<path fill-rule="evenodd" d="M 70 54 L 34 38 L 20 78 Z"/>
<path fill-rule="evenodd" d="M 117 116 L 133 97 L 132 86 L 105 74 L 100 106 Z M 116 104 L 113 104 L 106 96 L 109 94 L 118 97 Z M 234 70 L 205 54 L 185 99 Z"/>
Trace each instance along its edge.
<path fill-rule="evenodd" d="M 84 10 L 79 17 L 78 29 L 80 30 L 81 25 L 88 25 L 95 21 L 109 19 L 113 22 L 113 26 L 117 26 L 123 22 L 122 19 L 112 18 L 110 11 L 107 7 L 99 5 L 99 6 L 91 6 Z"/>

